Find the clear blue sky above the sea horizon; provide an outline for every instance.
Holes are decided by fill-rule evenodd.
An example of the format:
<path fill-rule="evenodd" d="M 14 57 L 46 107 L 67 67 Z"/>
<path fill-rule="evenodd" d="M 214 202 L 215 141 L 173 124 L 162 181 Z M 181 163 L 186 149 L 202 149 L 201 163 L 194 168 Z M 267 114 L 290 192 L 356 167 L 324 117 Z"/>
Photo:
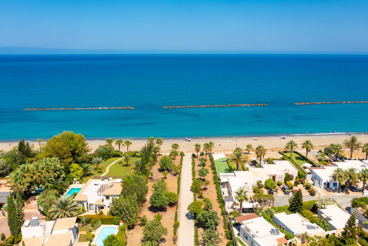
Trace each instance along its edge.
<path fill-rule="evenodd" d="M 4 0 L 0 47 L 367 54 L 368 1 Z"/>

